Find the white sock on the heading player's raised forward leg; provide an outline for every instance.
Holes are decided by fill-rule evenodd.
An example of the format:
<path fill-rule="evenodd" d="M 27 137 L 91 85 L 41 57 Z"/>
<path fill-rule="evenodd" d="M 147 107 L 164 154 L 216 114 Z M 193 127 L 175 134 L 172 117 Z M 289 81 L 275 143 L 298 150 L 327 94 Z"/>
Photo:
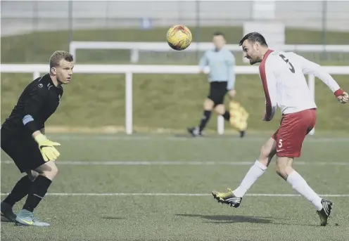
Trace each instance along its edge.
<path fill-rule="evenodd" d="M 258 160 L 255 161 L 255 164 L 248 170 L 245 178 L 241 181 L 240 186 L 233 191 L 235 197 L 243 197 L 253 183 L 264 174 L 266 169 L 267 167 L 264 164 L 258 162 Z"/>

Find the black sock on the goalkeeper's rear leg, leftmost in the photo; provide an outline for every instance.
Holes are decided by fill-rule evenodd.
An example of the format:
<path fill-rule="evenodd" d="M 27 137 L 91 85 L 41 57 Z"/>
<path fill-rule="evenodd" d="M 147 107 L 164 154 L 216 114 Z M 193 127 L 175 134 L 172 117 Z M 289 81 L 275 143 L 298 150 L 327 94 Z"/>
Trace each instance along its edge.
<path fill-rule="evenodd" d="M 20 178 L 20 181 L 15 183 L 11 193 L 4 199 L 4 202 L 13 206 L 29 193 L 30 185 L 32 185 L 32 181 L 30 181 L 29 176 L 23 176 L 23 178 Z"/>

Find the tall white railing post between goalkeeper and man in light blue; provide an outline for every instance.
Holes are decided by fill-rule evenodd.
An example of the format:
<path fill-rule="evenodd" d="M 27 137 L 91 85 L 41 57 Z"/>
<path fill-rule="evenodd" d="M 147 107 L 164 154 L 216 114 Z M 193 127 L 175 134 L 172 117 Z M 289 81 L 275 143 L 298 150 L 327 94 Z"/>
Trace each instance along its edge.
<path fill-rule="evenodd" d="M 132 134 L 132 72 L 126 72 L 125 83 L 125 126 L 126 133 Z"/>

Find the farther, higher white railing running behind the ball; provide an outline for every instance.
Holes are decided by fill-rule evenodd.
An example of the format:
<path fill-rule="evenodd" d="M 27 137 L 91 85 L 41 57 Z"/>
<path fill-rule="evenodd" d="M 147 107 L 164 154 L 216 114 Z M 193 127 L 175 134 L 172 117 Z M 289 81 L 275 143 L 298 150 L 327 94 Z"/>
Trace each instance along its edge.
<path fill-rule="evenodd" d="M 212 43 L 193 42 L 185 51 L 206 51 L 212 48 Z M 239 44 L 227 44 L 230 51 L 241 51 Z M 298 52 L 331 52 L 331 53 L 348 53 L 349 45 L 321 45 L 321 44 L 285 44 L 273 46 L 274 50 L 279 51 L 298 51 Z M 69 51 L 77 59 L 77 49 L 129 49 L 131 51 L 131 63 L 137 63 L 139 60 L 139 51 L 158 51 L 167 52 L 175 51 L 166 42 L 122 42 L 122 41 L 71 41 Z"/>

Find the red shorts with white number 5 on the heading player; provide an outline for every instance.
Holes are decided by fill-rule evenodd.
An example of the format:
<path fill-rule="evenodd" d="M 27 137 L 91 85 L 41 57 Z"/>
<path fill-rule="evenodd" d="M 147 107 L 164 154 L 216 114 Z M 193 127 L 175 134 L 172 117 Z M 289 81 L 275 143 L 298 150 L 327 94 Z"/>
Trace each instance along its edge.
<path fill-rule="evenodd" d="M 300 157 L 305 136 L 315 126 L 316 110 L 282 115 L 280 127 L 272 138 L 277 141 L 278 157 Z"/>

